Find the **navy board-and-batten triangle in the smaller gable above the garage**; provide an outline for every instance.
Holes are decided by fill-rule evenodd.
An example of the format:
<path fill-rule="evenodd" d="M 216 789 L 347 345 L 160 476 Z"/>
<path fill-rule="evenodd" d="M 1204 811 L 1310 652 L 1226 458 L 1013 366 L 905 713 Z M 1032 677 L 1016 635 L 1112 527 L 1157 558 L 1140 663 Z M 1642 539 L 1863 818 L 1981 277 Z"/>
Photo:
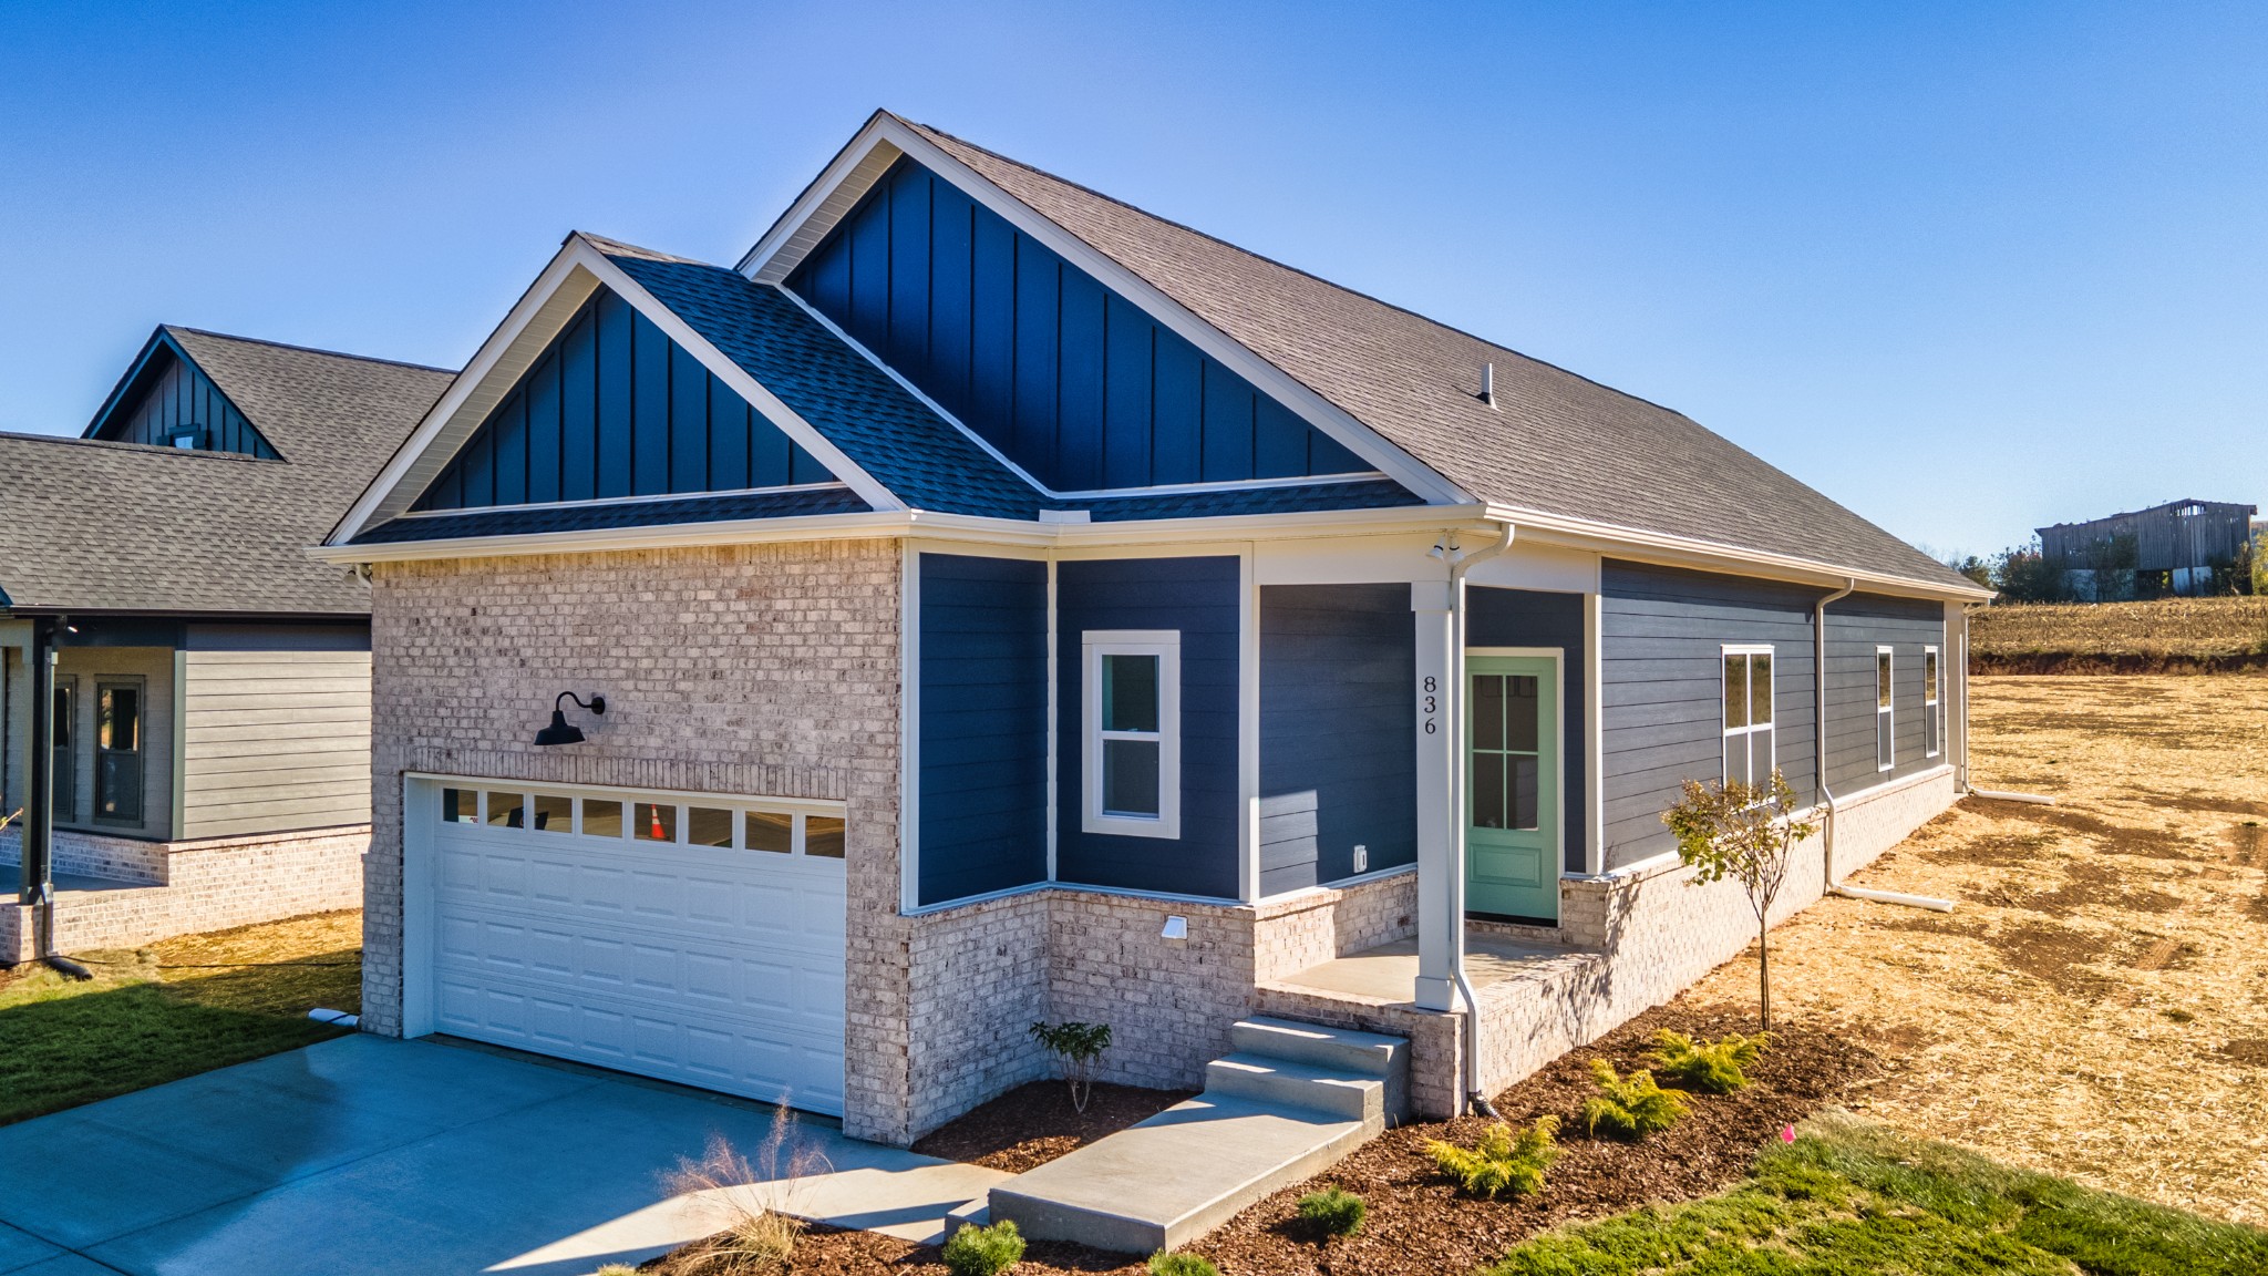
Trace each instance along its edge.
<path fill-rule="evenodd" d="M 599 288 L 413 509 L 730 493 L 832 479 L 689 350 Z"/>

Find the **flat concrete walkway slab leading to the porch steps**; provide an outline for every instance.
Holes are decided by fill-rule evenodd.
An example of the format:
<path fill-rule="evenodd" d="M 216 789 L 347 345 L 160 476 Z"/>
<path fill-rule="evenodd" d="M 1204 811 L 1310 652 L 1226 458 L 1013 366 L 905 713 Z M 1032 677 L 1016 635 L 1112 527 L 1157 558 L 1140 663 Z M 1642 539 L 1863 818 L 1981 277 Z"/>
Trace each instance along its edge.
<path fill-rule="evenodd" d="M 1377 1081 L 1372 1078 L 1372 1085 Z M 1207 1090 L 991 1190 L 991 1217 L 1120 1253 L 1179 1249 L 1383 1128 Z"/>

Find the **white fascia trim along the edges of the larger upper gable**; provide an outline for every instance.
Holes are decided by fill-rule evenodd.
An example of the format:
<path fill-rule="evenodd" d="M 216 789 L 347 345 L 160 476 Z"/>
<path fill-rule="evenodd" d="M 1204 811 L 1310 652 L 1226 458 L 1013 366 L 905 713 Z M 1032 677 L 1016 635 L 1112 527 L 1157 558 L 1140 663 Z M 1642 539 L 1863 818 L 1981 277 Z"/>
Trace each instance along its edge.
<path fill-rule="evenodd" d="M 885 157 L 887 159 L 878 159 Z M 1322 397 L 1304 381 L 1261 359 L 1250 347 L 1220 331 L 1195 311 L 1175 302 L 1141 275 L 1111 261 L 1084 238 L 1048 220 L 1023 200 L 993 186 L 975 168 L 953 159 L 930 138 L 905 127 L 887 114 L 878 114 L 850 145 L 835 157 L 819 182 L 782 216 L 748 257 L 739 261 L 742 275 L 760 284 L 776 284 L 803 261 L 803 257 L 826 238 L 828 229 L 850 211 L 850 207 L 873 186 L 873 182 L 898 159 L 914 157 L 930 173 L 953 182 L 964 195 L 1007 218 L 1023 234 L 1048 245 L 1057 257 L 1070 261 L 1102 286 L 1134 302 L 1157 322 L 1163 322 L 1198 350 L 1225 363 L 1232 372 L 1259 386 L 1268 397 L 1290 409 L 1300 420 L 1327 434 L 1340 447 L 1354 452 L 1386 477 L 1417 493 L 1427 504 L 1470 504 L 1472 495 L 1445 479 L 1424 461 L 1417 461 L 1352 413 Z M 805 225 L 812 229 L 805 234 Z"/>

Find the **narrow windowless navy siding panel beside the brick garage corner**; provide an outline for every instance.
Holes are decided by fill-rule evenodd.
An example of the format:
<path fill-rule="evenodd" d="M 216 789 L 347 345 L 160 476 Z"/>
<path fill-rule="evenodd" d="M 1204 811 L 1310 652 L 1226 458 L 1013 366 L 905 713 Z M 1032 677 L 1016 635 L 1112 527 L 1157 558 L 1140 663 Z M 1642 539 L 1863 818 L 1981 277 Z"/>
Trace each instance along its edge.
<path fill-rule="evenodd" d="M 1048 879 L 1048 565 L 921 554 L 921 906 Z"/>

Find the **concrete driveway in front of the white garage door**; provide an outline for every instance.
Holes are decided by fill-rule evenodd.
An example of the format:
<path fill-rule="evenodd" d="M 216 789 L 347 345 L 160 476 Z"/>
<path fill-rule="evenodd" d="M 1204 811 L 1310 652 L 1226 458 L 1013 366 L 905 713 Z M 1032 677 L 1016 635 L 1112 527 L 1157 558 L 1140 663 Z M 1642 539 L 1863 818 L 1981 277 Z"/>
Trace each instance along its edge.
<path fill-rule="evenodd" d="M 764 1108 L 440 1042 L 352 1035 L 0 1128 L 0 1271 L 16 1276 L 585 1276 L 717 1231 L 669 1199 Z M 832 1174 L 798 1215 L 925 1237 L 998 1172 L 796 1122 Z"/>

